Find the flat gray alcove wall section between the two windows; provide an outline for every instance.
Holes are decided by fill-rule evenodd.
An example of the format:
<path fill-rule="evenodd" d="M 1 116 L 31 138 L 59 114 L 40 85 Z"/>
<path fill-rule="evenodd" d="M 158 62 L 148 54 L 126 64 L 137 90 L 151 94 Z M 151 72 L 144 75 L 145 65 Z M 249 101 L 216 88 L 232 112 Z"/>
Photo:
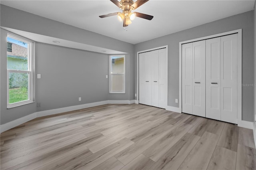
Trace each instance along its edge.
<path fill-rule="evenodd" d="M 107 54 L 45 43 L 36 43 L 35 52 L 37 111 L 108 100 Z"/>

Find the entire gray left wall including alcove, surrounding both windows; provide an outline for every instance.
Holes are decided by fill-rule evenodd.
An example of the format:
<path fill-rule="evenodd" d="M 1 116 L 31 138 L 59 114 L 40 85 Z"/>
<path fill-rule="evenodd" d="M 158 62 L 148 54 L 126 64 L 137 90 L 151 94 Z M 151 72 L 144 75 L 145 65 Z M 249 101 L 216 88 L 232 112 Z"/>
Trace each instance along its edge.
<path fill-rule="evenodd" d="M 126 55 L 126 93 L 109 94 L 109 79 L 105 77 L 109 72 L 108 55 L 36 43 L 35 72 L 41 73 L 42 78 L 36 79 L 35 99 L 36 103 L 41 102 L 42 105 L 37 108 L 36 103 L 32 103 L 6 109 L 7 33 L 1 29 L 1 125 L 36 111 L 104 100 L 134 99 L 133 44 L 4 5 L 0 6 L 0 12 L 0 26 L 3 27 L 128 53 Z M 82 97 L 81 102 L 78 101 L 78 97 Z"/>

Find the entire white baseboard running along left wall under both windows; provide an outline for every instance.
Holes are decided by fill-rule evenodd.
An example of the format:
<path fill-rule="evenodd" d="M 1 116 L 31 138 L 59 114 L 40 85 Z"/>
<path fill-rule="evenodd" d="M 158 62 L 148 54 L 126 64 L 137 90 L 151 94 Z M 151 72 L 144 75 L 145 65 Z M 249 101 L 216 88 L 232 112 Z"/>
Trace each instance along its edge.
<path fill-rule="evenodd" d="M 59 109 L 52 109 L 52 110 L 47 110 L 47 111 L 39 111 L 39 112 L 32 113 L 30 115 L 21 117 L 19 119 L 16 119 L 14 121 L 10 121 L 8 123 L 1 125 L 0 132 L 2 133 L 6 130 L 9 130 L 18 125 L 21 125 L 22 123 L 26 123 L 28 121 L 31 121 L 32 119 L 36 119 L 37 117 L 55 115 L 58 113 L 76 111 L 76 110 L 80 110 L 80 109 L 86 109 L 88 107 L 95 107 L 95 106 L 106 105 L 106 104 L 133 104 L 133 103 L 134 103 L 134 100 L 106 100 L 106 101 L 99 101 L 99 102 L 94 102 L 94 103 L 87 103 L 87 104 L 83 104 L 83 105 L 62 107 Z"/>

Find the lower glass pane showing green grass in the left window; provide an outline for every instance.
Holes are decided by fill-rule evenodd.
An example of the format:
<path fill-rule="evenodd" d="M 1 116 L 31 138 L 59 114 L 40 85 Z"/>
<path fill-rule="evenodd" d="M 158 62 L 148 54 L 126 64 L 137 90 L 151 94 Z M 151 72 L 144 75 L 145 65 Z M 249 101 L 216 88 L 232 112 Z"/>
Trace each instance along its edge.
<path fill-rule="evenodd" d="M 28 73 L 9 73 L 9 104 L 28 99 Z"/>

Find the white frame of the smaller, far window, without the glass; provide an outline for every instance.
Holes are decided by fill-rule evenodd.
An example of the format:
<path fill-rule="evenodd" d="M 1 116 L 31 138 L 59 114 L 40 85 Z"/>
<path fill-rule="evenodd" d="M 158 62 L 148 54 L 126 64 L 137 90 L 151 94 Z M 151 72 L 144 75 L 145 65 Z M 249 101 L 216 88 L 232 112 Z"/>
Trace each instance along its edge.
<path fill-rule="evenodd" d="M 111 57 L 124 57 L 124 73 L 111 73 L 111 68 L 112 68 L 112 60 Z M 123 75 L 123 91 L 112 91 L 112 76 L 111 75 Z M 125 55 L 123 54 L 117 54 L 117 55 L 109 55 L 109 93 L 113 94 L 123 94 L 125 93 Z"/>

